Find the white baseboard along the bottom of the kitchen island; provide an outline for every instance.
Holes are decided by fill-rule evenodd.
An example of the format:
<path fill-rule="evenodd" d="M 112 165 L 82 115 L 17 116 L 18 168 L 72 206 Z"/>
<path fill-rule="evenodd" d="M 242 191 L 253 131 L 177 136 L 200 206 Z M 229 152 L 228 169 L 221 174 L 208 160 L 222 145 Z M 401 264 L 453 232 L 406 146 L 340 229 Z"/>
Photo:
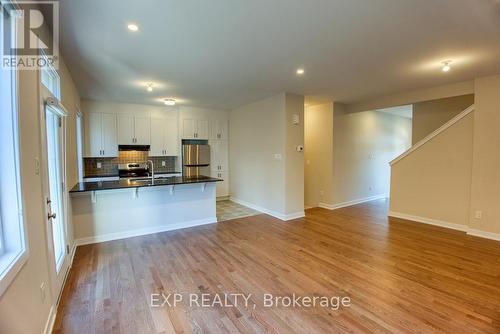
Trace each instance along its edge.
<path fill-rule="evenodd" d="M 170 224 L 170 225 L 165 225 L 165 226 L 155 226 L 155 227 L 141 228 L 141 229 L 130 230 L 130 231 L 101 234 L 101 235 L 96 235 L 93 237 L 76 239 L 75 243 L 77 246 L 82 246 L 82 245 L 88 245 L 88 244 L 95 244 L 95 243 L 99 243 L 99 242 L 118 240 L 118 239 L 126 239 L 126 238 L 138 237 L 141 235 L 154 234 L 154 233 L 159 233 L 159 232 L 167 232 L 167 231 L 179 230 L 179 229 L 183 229 L 183 228 L 206 225 L 206 224 L 214 224 L 214 223 L 217 223 L 217 217 L 212 217 L 212 218 L 207 218 L 207 219 L 199 219 L 199 220 L 191 220 L 191 221 Z"/>

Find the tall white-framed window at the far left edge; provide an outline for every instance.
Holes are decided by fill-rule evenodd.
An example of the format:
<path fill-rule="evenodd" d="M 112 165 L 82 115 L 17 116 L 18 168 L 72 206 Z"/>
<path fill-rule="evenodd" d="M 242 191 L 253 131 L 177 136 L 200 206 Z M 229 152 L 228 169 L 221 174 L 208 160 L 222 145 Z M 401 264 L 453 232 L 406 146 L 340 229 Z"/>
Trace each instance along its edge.
<path fill-rule="evenodd" d="M 1 7 L 0 26 L 12 27 L 10 40 L 4 41 L 0 31 L 0 48 L 12 47 L 15 18 Z M 7 44 L 7 45 L 5 45 Z M 3 50 L 1 50 L 3 54 Z M 27 258 L 27 243 L 22 214 L 19 165 L 19 125 L 17 71 L 0 69 L 0 296 L 12 282 Z"/>

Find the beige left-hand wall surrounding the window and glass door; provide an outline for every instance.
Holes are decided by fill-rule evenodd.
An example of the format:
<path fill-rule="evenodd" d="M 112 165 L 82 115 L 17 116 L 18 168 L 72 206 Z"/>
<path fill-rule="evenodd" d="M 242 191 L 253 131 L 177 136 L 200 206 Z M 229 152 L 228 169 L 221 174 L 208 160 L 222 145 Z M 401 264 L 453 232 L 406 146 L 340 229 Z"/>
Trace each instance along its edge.
<path fill-rule="evenodd" d="M 75 113 L 79 95 L 63 59 L 60 59 L 61 100 L 68 109 L 67 118 L 67 184 L 77 180 Z M 41 175 L 35 174 L 35 158 L 40 152 L 40 96 L 38 72 L 19 72 L 19 108 L 21 128 L 21 176 L 29 258 L 12 284 L 0 297 L 0 333 L 41 333 L 49 313 L 55 307 L 50 291 L 48 272 L 49 255 L 47 252 L 44 199 L 41 188 Z M 69 222 L 69 242 L 73 240 L 73 228 Z M 42 301 L 40 285 L 46 285 L 46 298 Z"/>

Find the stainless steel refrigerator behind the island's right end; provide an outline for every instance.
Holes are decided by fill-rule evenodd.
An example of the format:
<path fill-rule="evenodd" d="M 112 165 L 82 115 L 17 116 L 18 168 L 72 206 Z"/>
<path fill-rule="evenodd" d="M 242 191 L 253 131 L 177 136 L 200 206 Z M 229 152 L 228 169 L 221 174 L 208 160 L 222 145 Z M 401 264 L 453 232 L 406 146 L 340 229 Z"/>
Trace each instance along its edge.
<path fill-rule="evenodd" d="M 210 176 L 209 145 L 182 145 L 182 174 L 183 176 Z"/>

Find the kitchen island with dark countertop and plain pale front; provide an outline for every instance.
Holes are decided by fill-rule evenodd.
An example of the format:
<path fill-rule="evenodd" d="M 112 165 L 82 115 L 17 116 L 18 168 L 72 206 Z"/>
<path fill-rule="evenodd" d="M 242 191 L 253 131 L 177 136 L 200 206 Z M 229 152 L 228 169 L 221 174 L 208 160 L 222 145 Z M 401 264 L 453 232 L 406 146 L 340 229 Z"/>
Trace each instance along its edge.
<path fill-rule="evenodd" d="M 82 182 L 70 190 L 78 245 L 217 222 L 208 176 Z"/>

